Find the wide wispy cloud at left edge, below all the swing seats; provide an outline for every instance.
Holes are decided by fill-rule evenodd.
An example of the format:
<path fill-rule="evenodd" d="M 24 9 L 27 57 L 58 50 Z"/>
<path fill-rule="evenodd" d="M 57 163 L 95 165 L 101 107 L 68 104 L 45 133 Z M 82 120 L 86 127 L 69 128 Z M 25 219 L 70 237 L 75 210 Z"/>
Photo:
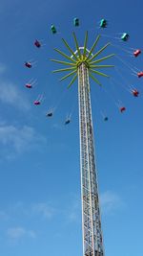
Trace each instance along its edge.
<path fill-rule="evenodd" d="M 5 152 L 8 158 L 14 156 L 15 153 L 30 151 L 37 148 L 39 144 L 45 143 L 46 139 L 37 133 L 34 128 L 28 126 L 16 128 L 11 125 L 0 127 L 0 144 L 3 145 L 2 151 Z"/>

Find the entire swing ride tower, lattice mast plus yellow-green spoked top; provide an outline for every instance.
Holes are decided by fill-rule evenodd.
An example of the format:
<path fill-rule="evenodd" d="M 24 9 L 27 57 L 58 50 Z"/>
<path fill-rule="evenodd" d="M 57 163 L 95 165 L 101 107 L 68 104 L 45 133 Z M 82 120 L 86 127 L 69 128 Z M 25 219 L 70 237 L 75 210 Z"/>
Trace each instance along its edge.
<path fill-rule="evenodd" d="M 101 85 L 100 81 L 94 77 L 94 74 L 102 77 L 109 77 L 99 70 L 113 66 L 107 64 L 100 65 L 100 62 L 111 58 L 113 54 L 97 58 L 110 45 L 110 43 L 107 43 L 99 51 L 93 54 L 99 38 L 100 35 L 96 37 L 91 50 L 88 50 L 88 32 L 85 35 L 83 47 L 78 46 L 76 35 L 73 33 L 76 48 L 75 51 L 72 51 L 72 48 L 69 46 L 67 41 L 62 39 L 71 56 L 68 56 L 58 49 L 54 49 L 62 57 L 70 61 L 51 59 L 56 63 L 68 66 L 66 68 L 53 71 L 53 73 L 70 71 L 68 75 L 61 79 L 61 81 L 63 81 L 72 77 L 72 81 L 68 87 L 70 87 L 76 78 L 78 78 L 83 256 L 104 256 L 97 171 L 94 154 L 90 78 L 98 85 Z"/>

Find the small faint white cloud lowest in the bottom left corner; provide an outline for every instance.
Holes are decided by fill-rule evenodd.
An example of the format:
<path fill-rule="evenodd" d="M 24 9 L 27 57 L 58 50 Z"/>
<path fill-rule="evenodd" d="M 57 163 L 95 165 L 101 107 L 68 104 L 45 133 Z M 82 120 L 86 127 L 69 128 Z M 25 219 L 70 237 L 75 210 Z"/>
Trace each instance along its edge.
<path fill-rule="evenodd" d="M 8 237 L 11 240 L 19 240 L 22 239 L 24 237 L 28 237 L 28 238 L 35 238 L 36 234 L 33 230 L 28 230 L 24 227 L 12 227 L 9 228 L 7 231 Z"/>

